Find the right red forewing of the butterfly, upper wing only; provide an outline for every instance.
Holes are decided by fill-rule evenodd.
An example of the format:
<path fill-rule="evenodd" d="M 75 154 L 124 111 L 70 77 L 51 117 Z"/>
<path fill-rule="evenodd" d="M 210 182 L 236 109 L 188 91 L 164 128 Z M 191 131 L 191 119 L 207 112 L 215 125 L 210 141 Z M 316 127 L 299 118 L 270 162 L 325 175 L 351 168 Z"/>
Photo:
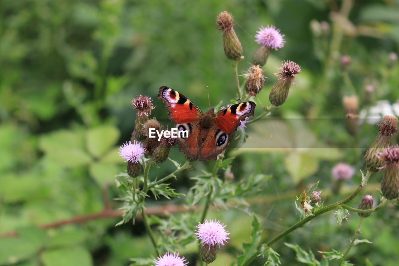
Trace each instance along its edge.
<path fill-rule="evenodd" d="M 215 125 L 225 133 L 231 134 L 237 130 L 240 121 L 245 117 L 253 116 L 254 111 L 255 103 L 253 101 L 231 105 L 215 114 Z"/>

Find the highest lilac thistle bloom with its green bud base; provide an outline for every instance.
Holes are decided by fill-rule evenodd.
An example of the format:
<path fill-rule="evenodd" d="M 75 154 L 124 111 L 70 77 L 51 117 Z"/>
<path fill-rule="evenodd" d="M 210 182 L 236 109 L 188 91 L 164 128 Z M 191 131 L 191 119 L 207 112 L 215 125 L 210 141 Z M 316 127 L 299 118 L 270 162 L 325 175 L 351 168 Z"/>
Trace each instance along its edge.
<path fill-rule="evenodd" d="M 259 44 L 257 50 L 252 56 L 252 64 L 263 66 L 266 64 L 270 50 L 278 50 L 284 46 L 284 35 L 280 34 L 280 30 L 275 26 L 267 25 L 266 28 L 261 26 L 255 35 L 255 41 Z"/>

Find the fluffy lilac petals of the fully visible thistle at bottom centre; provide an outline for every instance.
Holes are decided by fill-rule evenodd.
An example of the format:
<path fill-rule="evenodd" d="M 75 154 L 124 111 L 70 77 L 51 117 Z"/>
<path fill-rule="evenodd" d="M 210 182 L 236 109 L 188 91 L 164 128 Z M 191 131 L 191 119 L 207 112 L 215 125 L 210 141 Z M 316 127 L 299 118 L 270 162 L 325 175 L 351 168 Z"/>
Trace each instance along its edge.
<path fill-rule="evenodd" d="M 224 242 L 227 242 L 229 239 L 228 235 L 230 234 L 224 228 L 226 226 L 221 224 L 220 221 L 216 222 L 216 219 L 205 220 L 203 224 L 199 223 L 197 225 L 198 230 L 196 230 L 197 239 L 201 239 L 201 243 L 206 244 L 207 246 L 215 246 L 216 244 L 224 245 Z M 224 241 L 224 242 L 223 242 Z"/>

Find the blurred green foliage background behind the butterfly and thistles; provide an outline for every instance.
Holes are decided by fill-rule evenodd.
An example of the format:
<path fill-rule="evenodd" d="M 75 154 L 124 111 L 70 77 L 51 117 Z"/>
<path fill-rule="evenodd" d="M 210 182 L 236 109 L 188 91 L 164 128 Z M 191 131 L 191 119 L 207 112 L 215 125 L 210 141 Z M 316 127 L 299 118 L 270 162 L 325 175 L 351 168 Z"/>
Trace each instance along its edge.
<path fill-rule="evenodd" d="M 1 1 L 0 265 L 116 266 L 129 265 L 129 258 L 153 256 L 139 220 L 134 226 L 118 227 L 119 217 L 48 229 L 38 226 L 101 212 L 105 192 L 113 209 L 120 206 L 113 201 L 118 195 L 115 175 L 126 165 L 117 148 L 130 139 L 136 114 L 130 101 L 136 95 L 154 99 L 157 107 L 152 115 L 159 119 L 166 118 L 162 102 L 156 99 L 162 85 L 180 91 L 203 110 L 208 107 L 206 86 L 213 106 L 234 99 L 232 62 L 225 58 L 215 25 L 217 14 L 224 10 L 233 14 L 243 45 L 240 73 L 250 66 L 247 62 L 257 48 L 253 36 L 259 26 L 273 24 L 285 34 L 284 48 L 272 51 L 264 67 L 269 79 L 258 95 L 263 104 L 269 104 L 268 93 L 276 81 L 272 73 L 282 60 L 300 64 L 302 73 L 286 103 L 272 115 L 283 119 L 247 128 L 247 146 L 233 163 L 235 179 L 253 173 L 271 178 L 259 195 L 247 199 L 249 206 L 211 210 L 209 218 L 222 220 L 231 232 L 229 243 L 212 265 L 235 261 L 242 243 L 250 238 L 251 212 L 260 217 L 263 235 L 274 236 L 298 220 L 295 195 L 309 184 L 320 180 L 326 202 L 346 197 L 359 183 L 360 171 L 344 183 L 342 195 L 333 196 L 328 194 L 331 168 L 344 161 L 363 169 L 362 156 L 377 129 L 362 125 L 358 148 L 354 148 L 343 120 L 342 97 L 349 89 L 339 57 L 323 70 L 326 62 L 314 41 L 310 22 L 331 22 L 331 10 L 340 5 L 340 1 L 316 0 Z M 389 52 L 399 49 L 398 6 L 398 1 L 357 1 L 350 22 L 339 25 L 344 29 L 340 53 L 352 58 L 349 75 L 356 91 L 362 95 L 367 83 L 375 84 L 377 99 L 391 103 L 399 97 L 398 67 L 387 68 Z M 326 79 L 331 82 L 325 84 Z M 314 122 L 320 118 L 326 119 Z M 282 137 L 273 144 L 289 149 L 253 149 L 276 132 Z M 328 149 L 312 149 L 320 143 Z M 170 156 L 184 162 L 177 149 Z M 161 166 L 152 172 L 153 178 L 174 169 L 168 161 Z M 211 163 L 194 166 L 200 172 Z M 180 174 L 171 187 L 187 193 L 194 184 L 189 179 L 192 175 L 193 171 Z M 366 188 L 375 200 L 380 179 L 380 173 L 373 175 Z M 151 201 L 150 206 L 171 203 L 183 201 L 162 199 Z M 357 223 L 357 214 L 342 225 L 332 213 L 325 214 L 273 249 L 283 265 L 296 265 L 294 252 L 284 242 L 315 254 L 341 250 L 349 245 Z M 397 265 L 398 229 L 397 207 L 373 213 L 365 219 L 361 235 L 373 244 L 355 246 L 349 259 L 358 265 L 368 261 L 369 265 Z M 195 242 L 180 250 L 188 260 L 196 252 Z"/>

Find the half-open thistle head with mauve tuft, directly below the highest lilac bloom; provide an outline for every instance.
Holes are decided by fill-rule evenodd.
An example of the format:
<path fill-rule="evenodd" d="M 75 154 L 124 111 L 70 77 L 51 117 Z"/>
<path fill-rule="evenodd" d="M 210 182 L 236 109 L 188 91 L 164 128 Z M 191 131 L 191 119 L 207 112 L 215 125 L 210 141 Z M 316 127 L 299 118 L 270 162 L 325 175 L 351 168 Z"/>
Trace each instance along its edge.
<path fill-rule="evenodd" d="M 274 73 L 279 79 L 276 85 L 270 91 L 269 100 L 275 105 L 282 105 L 288 97 L 288 92 L 292 84 L 295 84 L 295 74 L 300 73 L 300 66 L 292 61 L 282 63 L 282 67 L 278 67 L 280 73 Z"/>

